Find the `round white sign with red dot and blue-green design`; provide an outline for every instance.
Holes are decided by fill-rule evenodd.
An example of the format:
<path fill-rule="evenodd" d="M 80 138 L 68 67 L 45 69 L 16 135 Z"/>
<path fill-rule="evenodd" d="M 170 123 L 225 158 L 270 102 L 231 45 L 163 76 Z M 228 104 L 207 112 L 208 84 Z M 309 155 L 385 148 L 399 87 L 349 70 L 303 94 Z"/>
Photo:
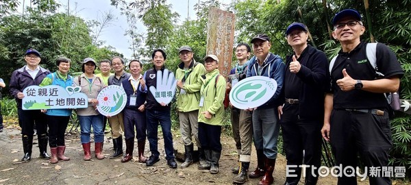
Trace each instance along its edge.
<path fill-rule="evenodd" d="M 114 116 L 125 108 L 127 95 L 121 86 L 108 86 L 100 91 L 97 101 L 99 101 L 97 110 L 101 114 Z"/>

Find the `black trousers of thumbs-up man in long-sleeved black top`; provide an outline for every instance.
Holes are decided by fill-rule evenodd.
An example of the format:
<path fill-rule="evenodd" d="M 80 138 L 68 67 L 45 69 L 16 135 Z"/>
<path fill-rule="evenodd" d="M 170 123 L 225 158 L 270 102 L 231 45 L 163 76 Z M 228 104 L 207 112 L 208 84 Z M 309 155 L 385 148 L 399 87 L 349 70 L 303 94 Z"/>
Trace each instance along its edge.
<path fill-rule="evenodd" d="M 321 166 L 321 127 L 323 118 L 317 120 L 299 119 L 298 104 L 286 103 L 283 114 L 279 120 L 284 140 L 284 151 L 286 152 L 287 165 L 295 170 L 297 177 L 287 177 L 287 182 L 299 182 L 301 178 L 301 164 L 309 165 L 306 169 L 306 180 L 316 182 L 318 168 Z M 310 167 L 316 167 L 314 174 Z M 316 176 L 316 177 L 314 177 Z"/>

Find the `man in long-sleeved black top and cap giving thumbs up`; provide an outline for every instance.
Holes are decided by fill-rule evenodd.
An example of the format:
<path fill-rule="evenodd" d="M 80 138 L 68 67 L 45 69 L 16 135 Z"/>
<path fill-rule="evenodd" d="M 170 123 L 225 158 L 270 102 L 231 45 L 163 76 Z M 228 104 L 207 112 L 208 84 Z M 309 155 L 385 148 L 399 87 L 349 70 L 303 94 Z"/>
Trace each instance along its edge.
<path fill-rule="evenodd" d="M 308 45 L 308 29 L 303 23 L 292 23 L 286 29 L 292 55 L 286 57 L 282 88 L 282 106 L 278 107 L 287 165 L 294 173 L 287 175 L 286 185 L 297 185 L 300 165 L 306 164 L 304 184 L 316 184 L 321 165 L 321 127 L 324 95 L 329 84 L 327 56 Z M 295 165 L 292 167 L 290 165 Z M 296 177 L 291 177 L 295 175 Z"/>

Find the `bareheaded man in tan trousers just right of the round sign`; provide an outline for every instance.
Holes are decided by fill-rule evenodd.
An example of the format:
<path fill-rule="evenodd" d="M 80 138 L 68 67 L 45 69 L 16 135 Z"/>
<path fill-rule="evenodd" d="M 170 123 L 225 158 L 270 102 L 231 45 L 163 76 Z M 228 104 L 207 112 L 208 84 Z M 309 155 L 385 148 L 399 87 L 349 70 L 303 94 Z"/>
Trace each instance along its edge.
<path fill-rule="evenodd" d="M 108 85 L 121 86 L 121 82 L 123 82 L 123 80 L 129 79 L 130 77 L 130 73 L 127 73 L 124 70 L 124 59 L 116 56 L 112 58 L 111 63 L 114 69 L 114 75 L 111 75 L 108 78 Z M 119 114 L 110 116 L 108 118 L 108 122 L 110 123 L 112 130 L 114 147 L 114 153 L 112 156 L 110 156 L 110 159 L 123 156 L 123 136 L 121 135 L 124 131 L 123 119 L 123 112 L 120 112 Z"/>

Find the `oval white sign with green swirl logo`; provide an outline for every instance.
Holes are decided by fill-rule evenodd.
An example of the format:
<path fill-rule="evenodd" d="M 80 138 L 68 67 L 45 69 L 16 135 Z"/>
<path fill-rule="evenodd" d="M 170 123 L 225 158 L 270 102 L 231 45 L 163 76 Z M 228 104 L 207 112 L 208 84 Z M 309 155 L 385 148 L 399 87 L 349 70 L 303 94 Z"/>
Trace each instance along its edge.
<path fill-rule="evenodd" d="M 272 78 L 247 77 L 232 88 L 229 101 L 239 109 L 257 108 L 269 101 L 276 90 L 277 82 Z"/>

